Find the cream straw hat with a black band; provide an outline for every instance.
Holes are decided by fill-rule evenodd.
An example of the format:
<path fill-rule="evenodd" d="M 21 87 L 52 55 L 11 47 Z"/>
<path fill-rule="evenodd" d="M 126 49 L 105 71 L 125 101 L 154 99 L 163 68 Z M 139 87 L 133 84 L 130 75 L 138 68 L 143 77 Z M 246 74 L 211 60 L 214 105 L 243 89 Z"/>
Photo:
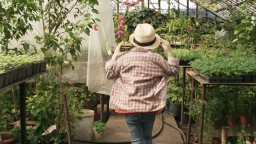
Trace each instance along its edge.
<path fill-rule="evenodd" d="M 155 29 L 148 23 L 138 24 L 133 34 L 130 35 L 130 43 L 144 49 L 155 49 L 160 44 L 160 37 L 155 34 Z"/>

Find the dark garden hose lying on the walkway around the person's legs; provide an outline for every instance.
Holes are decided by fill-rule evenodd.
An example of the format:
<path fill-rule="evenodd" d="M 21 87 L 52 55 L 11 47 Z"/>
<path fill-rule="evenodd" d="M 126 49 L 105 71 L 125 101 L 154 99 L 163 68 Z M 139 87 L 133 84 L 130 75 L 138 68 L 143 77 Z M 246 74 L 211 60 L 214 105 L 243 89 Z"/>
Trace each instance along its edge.
<path fill-rule="evenodd" d="M 179 128 L 176 128 L 174 126 L 172 126 L 171 124 L 169 124 L 168 122 L 166 122 L 164 120 L 164 117 L 162 116 L 162 112 L 164 112 L 164 109 L 162 109 L 160 112 L 159 112 L 159 118 L 160 118 L 160 121 L 161 121 L 161 125 L 160 125 L 160 128 L 158 131 L 156 131 L 156 133 L 152 136 L 153 138 L 155 138 L 156 136 L 158 136 L 161 131 L 162 131 L 162 128 L 164 127 L 164 123 L 167 124 L 168 126 L 176 129 L 179 131 L 179 133 L 181 133 L 182 135 L 182 139 L 184 141 L 184 143 L 186 143 L 186 139 L 185 139 L 185 135 L 183 133 L 183 131 Z M 97 141 L 86 141 L 86 140 L 73 140 L 73 141 L 76 141 L 76 142 L 83 142 L 83 143 L 98 143 L 98 144 L 123 144 L 123 143 L 131 143 L 131 141 L 119 141 L 119 142 L 97 142 Z"/>

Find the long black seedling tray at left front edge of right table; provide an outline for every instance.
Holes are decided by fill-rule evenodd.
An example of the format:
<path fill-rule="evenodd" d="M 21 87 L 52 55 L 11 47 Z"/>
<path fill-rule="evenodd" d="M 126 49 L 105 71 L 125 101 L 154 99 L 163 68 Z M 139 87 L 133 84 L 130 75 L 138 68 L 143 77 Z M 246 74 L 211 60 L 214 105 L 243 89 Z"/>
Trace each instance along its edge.
<path fill-rule="evenodd" d="M 201 76 L 203 80 L 206 80 L 210 83 L 241 83 L 243 78 L 240 76 L 237 77 L 217 77 L 217 76 L 206 76 L 200 74 L 198 70 L 193 69 L 197 74 Z"/>

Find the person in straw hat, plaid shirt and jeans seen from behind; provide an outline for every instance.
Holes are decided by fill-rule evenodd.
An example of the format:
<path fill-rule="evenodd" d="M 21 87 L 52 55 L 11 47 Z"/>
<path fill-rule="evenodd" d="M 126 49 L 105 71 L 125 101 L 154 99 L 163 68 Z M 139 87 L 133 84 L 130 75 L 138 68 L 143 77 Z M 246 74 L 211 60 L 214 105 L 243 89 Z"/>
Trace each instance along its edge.
<path fill-rule="evenodd" d="M 137 25 L 130 43 L 135 46 L 131 51 L 121 52 L 119 44 L 106 63 L 107 78 L 117 79 L 109 107 L 125 113 L 132 144 L 150 144 L 155 115 L 166 104 L 166 77 L 178 74 L 179 59 L 173 57 L 170 44 L 148 23 Z M 151 51 L 160 44 L 168 53 L 168 61 Z"/>

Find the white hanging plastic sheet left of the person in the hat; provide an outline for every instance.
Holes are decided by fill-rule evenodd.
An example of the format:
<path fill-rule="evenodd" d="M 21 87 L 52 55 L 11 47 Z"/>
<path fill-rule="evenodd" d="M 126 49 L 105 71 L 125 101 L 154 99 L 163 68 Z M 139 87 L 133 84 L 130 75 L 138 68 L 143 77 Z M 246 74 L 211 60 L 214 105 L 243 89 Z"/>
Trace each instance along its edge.
<path fill-rule="evenodd" d="M 110 94 L 113 80 L 108 80 L 105 75 L 105 63 L 111 58 L 115 48 L 115 34 L 112 8 L 110 0 L 98 0 L 96 9 L 98 18 L 98 31 L 91 31 L 88 50 L 87 86 L 89 91 Z"/>

